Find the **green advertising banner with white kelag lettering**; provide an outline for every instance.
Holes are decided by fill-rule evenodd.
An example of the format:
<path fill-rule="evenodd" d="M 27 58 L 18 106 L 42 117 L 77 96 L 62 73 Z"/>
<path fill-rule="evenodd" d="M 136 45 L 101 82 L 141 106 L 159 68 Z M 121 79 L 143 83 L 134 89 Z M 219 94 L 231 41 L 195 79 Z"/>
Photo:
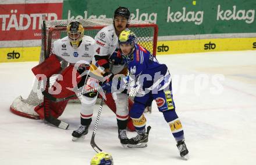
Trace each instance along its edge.
<path fill-rule="evenodd" d="M 131 20 L 157 23 L 159 36 L 186 35 L 189 37 L 187 39 L 191 39 L 193 36 L 190 35 L 256 33 L 255 0 L 195 2 L 193 3 L 192 0 L 63 1 L 63 19 L 112 18 L 118 6 L 125 6 L 130 9 Z M 215 38 L 214 35 L 210 37 Z"/>

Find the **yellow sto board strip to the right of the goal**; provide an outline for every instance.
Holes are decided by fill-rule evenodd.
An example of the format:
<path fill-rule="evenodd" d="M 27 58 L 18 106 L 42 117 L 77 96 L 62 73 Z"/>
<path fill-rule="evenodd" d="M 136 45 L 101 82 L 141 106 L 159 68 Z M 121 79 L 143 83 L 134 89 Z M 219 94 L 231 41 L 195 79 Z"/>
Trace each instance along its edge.
<path fill-rule="evenodd" d="M 256 50 L 256 38 L 190 39 L 157 43 L 157 55 L 229 50 Z"/>

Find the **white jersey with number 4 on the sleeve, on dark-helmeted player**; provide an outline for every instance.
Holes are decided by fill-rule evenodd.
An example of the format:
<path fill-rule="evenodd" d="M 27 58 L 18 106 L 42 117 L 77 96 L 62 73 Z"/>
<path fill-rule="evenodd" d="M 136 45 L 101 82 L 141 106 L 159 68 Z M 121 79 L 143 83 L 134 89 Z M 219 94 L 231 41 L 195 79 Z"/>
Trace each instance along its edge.
<path fill-rule="evenodd" d="M 94 54 L 98 56 L 110 56 L 118 48 L 118 36 L 115 27 L 108 25 L 100 30 L 95 36 Z M 95 58 L 93 59 L 95 64 Z M 118 74 L 125 67 L 124 65 L 114 65 L 113 74 Z"/>

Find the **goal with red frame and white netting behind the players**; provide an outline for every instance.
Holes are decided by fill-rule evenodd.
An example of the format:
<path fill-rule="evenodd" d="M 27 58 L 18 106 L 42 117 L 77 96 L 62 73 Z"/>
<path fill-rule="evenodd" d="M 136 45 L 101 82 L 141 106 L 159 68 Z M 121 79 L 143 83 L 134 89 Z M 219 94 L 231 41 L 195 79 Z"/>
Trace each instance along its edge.
<path fill-rule="evenodd" d="M 39 63 L 44 61 L 44 52 L 47 52 L 47 56 L 51 53 L 51 47 L 59 38 L 66 36 L 66 26 L 71 21 L 74 20 L 51 20 L 45 21 L 47 28 L 47 49 L 44 50 L 44 46 L 41 46 L 41 54 Z M 84 27 L 84 35 L 95 37 L 97 32 L 101 30 L 106 25 L 113 24 L 113 19 L 87 19 L 87 20 L 76 20 L 79 21 Z M 157 24 L 146 23 L 144 21 L 134 21 L 131 20 L 129 23 L 129 29 L 136 34 L 137 43 L 149 50 L 154 56 L 157 50 L 157 36 L 158 36 L 158 26 Z M 43 44 L 44 42 L 42 42 Z M 62 68 L 65 68 L 68 64 L 62 61 Z M 55 82 L 56 77 L 50 78 L 50 86 Z M 34 83 L 33 89 L 31 90 L 29 97 L 27 99 L 22 99 L 21 101 L 29 104 L 31 106 L 36 106 L 42 102 L 41 94 L 41 81 L 36 81 Z"/>

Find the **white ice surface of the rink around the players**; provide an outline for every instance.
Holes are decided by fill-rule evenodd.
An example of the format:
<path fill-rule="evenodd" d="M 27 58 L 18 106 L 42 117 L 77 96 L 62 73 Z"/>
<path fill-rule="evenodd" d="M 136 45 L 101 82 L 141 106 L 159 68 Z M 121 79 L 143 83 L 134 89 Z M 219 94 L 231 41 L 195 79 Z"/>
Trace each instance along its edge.
<path fill-rule="evenodd" d="M 154 102 L 152 113 L 145 114 L 152 127 L 147 148 L 122 148 L 115 116 L 104 106 L 95 141 L 112 153 L 114 163 L 254 164 L 256 51 L 158 56 L 158 60 L 172 74 L 176 112 L 190 159 L 180 159 L 169 126 Z M 30 69 L 36 64 L 0 64 L 0 164 L 90 164 L 95 154 L 90 139 L 99 105 L 94 107 L 90 133 L 77 142 L 71 140 L 71 134 L 80 123 L 79 104 L 69 104 L 60 118 L 70 123 L 68 130 L 9 111 L 17 96 L 29 95 L 34 78 Z"/>

